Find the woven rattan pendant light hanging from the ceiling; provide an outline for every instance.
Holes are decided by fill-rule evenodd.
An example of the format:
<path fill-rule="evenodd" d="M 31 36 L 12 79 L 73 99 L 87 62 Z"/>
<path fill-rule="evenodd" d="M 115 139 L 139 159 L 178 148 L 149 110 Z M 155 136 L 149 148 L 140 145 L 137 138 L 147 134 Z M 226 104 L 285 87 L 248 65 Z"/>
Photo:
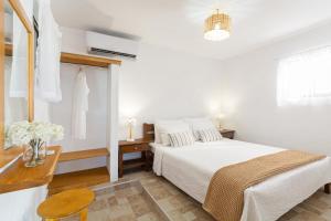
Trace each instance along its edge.
<path fill-rule="evenodd" d="M 204 39 L 210 41 L 222 41 L 229 36 L 231 18 L 225 13 L 212 14 L 204 23 Z"/>

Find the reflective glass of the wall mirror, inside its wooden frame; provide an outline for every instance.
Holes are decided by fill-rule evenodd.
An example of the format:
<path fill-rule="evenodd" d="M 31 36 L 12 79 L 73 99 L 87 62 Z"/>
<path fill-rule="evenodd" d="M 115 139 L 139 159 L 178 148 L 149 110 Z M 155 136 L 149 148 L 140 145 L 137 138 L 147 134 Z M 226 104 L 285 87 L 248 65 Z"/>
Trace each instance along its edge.
<path fill-rule="evenodd" d="M 4 1 L 4 126 L 28 120 L 28 32 Z"/>

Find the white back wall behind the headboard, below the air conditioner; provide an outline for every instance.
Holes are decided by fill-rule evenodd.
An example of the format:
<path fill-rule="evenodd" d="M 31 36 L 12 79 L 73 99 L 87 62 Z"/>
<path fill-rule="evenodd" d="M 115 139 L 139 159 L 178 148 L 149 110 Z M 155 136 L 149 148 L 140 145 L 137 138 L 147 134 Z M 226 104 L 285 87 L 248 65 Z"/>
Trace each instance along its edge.
<path fill-rule="evenodd" d="M 120 70 L 120 137 L 124 124 L 137 118 L 141 124 L 157 118 L 213 116 L 221 105 L 220 61 L 141 45 L 136 62 L 125 61 Z"/>

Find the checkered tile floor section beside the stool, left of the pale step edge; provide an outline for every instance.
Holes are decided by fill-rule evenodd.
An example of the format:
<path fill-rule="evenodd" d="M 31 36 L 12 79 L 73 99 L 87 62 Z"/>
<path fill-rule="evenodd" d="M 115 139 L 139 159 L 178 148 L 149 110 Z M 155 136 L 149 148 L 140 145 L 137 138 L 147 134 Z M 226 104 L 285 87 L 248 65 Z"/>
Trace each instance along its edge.
<path fill-rule="evenodd" d="M 95 190 L 96 200 L 88 208 L 92 221 L 158 221 L 164 220 L 150 194 L 139 181 L 119 183 Z M 78 221 L 78 215 L 64 221 Z"/>

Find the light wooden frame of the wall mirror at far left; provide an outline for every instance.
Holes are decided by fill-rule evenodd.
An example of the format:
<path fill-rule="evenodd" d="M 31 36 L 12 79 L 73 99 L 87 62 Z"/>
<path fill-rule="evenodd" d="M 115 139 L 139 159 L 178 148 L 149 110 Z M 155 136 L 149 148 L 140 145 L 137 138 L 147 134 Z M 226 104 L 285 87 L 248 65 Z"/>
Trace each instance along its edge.
<path fill-rule="evenodd" d="M 4 147 L 4 0 L 0 0 L 0 148 Z M 34 29 L 20 0 L 8 0 L 28 33 L 28 120 L 34 117 Z"/>

